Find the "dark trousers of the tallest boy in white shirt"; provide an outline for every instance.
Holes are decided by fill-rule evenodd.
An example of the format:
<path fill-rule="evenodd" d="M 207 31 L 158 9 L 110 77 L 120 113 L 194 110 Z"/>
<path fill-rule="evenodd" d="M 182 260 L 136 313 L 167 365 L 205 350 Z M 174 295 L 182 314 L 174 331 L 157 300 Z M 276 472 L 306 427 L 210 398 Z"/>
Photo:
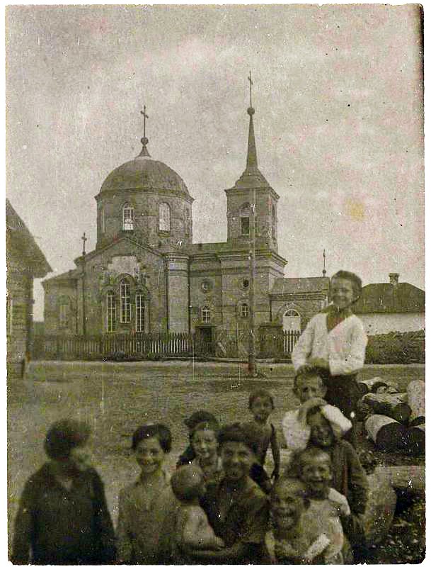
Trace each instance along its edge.
<path fill-rule="evenodd" d="M 348 376 L 329 376 L 325 381 L 326 384 L 326 401 L 335 405 L 348 420 L 352 422 L 352 429 L 347 432 L 344 439 L 353 447 L 357 444 L 357 415 L 356 407 L 362 394 L 357 385 L 357 374 L 349 374 Z"/>

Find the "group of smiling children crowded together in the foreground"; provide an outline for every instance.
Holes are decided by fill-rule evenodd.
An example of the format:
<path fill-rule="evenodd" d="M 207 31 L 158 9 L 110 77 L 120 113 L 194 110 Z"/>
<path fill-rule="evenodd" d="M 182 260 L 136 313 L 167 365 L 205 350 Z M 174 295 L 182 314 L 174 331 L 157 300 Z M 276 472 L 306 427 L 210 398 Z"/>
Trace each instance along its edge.
<path fill-rule="evenodd" d="M 190 444 L 171 476 L 163 466 L 171 432 L 163 424 L 143 425 L 132 437 L 141 473 L 120 492 L 115 533 L 103 483 L 88 462 L 88 428 L 57 422 L 45 439 L 50 460 L 21 496 L 13 563 L 360 561 L 367 477 L 355 447 L 343 439 L 350 435 L 355 443 L 355 372 L 367 342 L 350 312 L 360 279 L 338 272 L 331 291 L 332 305 L 311 320 L 292 355 L 300 405 L 282 420 L 291 449 L 283 470 L 270 423 L 274 400 L 263 389 L 250 395 L 250 422 L 220 427 L 206 411 L 185 420 Z"/>

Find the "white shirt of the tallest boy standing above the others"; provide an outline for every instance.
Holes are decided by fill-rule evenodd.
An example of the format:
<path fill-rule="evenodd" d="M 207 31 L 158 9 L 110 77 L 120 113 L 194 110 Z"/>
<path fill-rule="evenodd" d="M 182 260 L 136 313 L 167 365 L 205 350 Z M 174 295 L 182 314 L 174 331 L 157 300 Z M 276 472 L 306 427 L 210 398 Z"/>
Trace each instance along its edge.
<path fill-rule="evenodd" d="M 368 341 L 360 318 L 350 315 L 328 332 L 327 316 L 315 315 L 299 337 L 292 352 L 294 369 L 319 358 L 328 361 L 332 376 L 357 372 L 364 366 Z"/>

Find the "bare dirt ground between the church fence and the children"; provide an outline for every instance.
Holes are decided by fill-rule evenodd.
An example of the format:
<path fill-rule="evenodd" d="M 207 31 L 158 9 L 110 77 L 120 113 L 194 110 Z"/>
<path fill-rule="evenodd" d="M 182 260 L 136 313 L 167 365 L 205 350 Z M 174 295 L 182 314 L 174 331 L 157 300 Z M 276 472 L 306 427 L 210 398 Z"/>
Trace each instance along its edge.
<path fill-rule="evenodd" d="M 137 476 L 130 454 L 134 429 L 146 421 L 171 428 L 174 466 L 187 444 L 185 417 L 197 409 L 222 423 L 248 419 L 248 394 L 265 387 L 275 396 L 272 422 L 294 408 L 293 369 L 289 364 L 260 364 L 266 378 L 249 379 L 244 364 L 193 363 L 32 363 L 28 379 L 8 383 L 8 522 L 13 529 L 18 498 L 26 478 L 44 461 L 47 427 L 60 418 L 79 417 L 93 426 L 94 463 L 105 482 L 108 505 L 117 519 L 120 488 Z M 425 379 L 423 365 L 369 366 L 362 378 L 391 378 L 400 386 Z M 423 458 L 384 454 L 362 436 L 360 452 L 376 464 L 423 464 Z M 425 503 L 398 498 L 389 537 L 370 550 L 367 563 L 418 563 L 425 554 Z"/>

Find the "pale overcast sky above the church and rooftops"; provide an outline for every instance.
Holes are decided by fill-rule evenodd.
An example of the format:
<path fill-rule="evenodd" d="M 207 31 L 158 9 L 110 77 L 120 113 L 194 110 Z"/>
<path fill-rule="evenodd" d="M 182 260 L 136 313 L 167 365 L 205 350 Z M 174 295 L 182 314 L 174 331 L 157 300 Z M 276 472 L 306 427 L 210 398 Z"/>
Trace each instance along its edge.
<path fill-rule="evenodd" d="M 195 242 L 226 240 L 253 75 L 261 172 L 287 277 L 356 271 L 424 287 L 417 6 L 12 6 L 6 194 L 54 271 L 96 245 L 108 174 L 139 154 L 183 177 Z M 35 319 L 43 294 L 35 284 Z"/>

